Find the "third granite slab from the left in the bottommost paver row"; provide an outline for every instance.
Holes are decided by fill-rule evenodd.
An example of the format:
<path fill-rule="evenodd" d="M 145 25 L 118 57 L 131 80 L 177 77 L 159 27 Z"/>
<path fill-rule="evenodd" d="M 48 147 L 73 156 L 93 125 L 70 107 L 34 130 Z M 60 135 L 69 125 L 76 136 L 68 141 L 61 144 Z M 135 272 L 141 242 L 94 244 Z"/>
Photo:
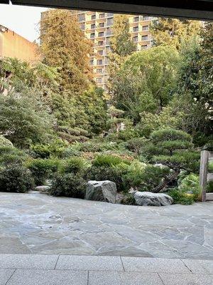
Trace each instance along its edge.
<path fill-rule="evenodd" d="M 88 285 L 163 285 L 156 273 L 89 271 Z"/>

